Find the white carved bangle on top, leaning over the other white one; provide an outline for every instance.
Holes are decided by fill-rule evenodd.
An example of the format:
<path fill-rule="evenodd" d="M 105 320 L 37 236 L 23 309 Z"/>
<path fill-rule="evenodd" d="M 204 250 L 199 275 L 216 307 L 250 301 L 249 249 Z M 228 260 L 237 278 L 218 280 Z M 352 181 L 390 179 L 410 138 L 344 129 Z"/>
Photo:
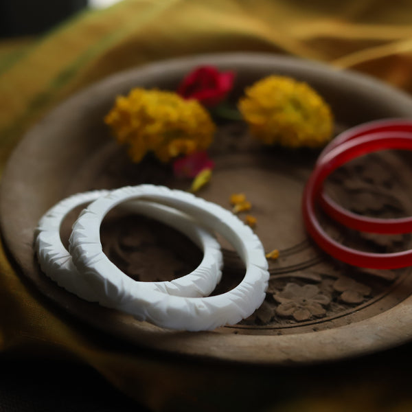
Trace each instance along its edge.
<path fill-rule="evenodd" d="M 134 284 L 102 252 L 100 224 L 113 207 L 135 198 L 176 207 L 229 240 L 246 265 L 242 282 L 221 295 L 196 298 L 165 295 Z M 69 243 L 74 264 L 98 291 L 102 306 L 161 327 L 211 330 L 235 324 L 249 317 L 266 296 L 268 263 L 258 236 L 230 211 L 187 192 L 154 185 L 113 190 L 82 211 L 73 225 Z"/>

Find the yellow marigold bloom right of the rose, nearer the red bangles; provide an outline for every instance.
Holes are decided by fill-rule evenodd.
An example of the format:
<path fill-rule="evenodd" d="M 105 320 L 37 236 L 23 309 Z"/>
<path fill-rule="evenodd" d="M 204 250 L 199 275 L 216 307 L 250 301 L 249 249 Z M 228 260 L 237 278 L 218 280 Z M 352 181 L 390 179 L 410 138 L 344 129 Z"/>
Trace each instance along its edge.
<path fill-rule="evenodd" d="M 238 108 L 251 134 L 264 144 L 319 148 L 332 137 L 330 106 L 308 84 L 268 76 L 245 90 Z"/>

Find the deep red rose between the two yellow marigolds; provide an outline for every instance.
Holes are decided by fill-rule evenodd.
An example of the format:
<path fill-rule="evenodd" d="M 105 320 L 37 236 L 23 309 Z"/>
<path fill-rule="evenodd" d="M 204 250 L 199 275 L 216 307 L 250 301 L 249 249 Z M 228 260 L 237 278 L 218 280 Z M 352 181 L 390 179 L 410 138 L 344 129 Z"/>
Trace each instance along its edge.
<path fill-rule="evenodd" d="M 177 93 L 205 106 L 216 106 L 231 90 L 234 77 L 233 71 L 219 72 L 214 66 L 198 67 L 183 79 Z"/>

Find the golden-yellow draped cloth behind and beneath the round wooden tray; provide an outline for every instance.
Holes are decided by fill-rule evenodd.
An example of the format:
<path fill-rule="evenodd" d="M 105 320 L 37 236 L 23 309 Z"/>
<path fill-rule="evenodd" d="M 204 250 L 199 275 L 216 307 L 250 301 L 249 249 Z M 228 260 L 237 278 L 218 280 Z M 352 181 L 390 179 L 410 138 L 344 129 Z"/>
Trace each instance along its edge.
<path fill-rule="evenodd" d="M 412 1 L 125 0 L 107 10 L 84 12 L 41 38 L 0 43 L 0 170 L 27 128 L 87 84 L 163 58 L 233 51 L 320 60 L 412 93 Z M 245 407 L 253 396 L 236 403 L 231 398 L 235 390 L 253 393 L 255 386 L 260 392 L 272 384 L 268 371 L 206 368 L 102 339 L 27 288 L 3 249 L 0 351 L 87 363 L 155 410 L 184 410 L 183 405 L 201 410 L 207 402 L 214 406 L 209 403 L 205 410 Z M 344 387 L 354 402 L 351 410 L 384 410 L 373 396 L 360 396 L 361 389 L 381 391 L 381 383 Z M 340 396 L 301 393 L 282 399 L 284 410 L 343 410 Z M 412 410 L 411 402 L 402 399 L 396 410 Z"/>

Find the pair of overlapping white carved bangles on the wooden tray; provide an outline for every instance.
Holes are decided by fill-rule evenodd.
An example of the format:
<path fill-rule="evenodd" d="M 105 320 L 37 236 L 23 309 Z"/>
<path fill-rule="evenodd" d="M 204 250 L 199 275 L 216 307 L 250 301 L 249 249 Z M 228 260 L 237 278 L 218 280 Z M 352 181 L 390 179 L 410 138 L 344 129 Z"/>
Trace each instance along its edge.
<path fill-rule="evenodd" d="M 74 207 L 85 203 L 90 204 L 73 225 L 67 251 L 60 240 L 61 222 Z M 198 268 L 170 282 L 137 282 L 122 273 L 103 253 L 100 242 L 104 216 L 120 204 L 185 233 L 203 249 Z M 238 286 L 211 297 L 207 295 L 220 281 L 222 254 L 209 231 L 217 231 L 231 242 L 246 266 Z M 43 272 L 59 286 L 82 299 L 164 328 L 211 330 L 238 323 L 262 304 L 268 285 L 264 249 L 250 227 L 214 203 L 163 186 L 139 185 L 71 196 L 38 222 L 35 249 Z"/>

